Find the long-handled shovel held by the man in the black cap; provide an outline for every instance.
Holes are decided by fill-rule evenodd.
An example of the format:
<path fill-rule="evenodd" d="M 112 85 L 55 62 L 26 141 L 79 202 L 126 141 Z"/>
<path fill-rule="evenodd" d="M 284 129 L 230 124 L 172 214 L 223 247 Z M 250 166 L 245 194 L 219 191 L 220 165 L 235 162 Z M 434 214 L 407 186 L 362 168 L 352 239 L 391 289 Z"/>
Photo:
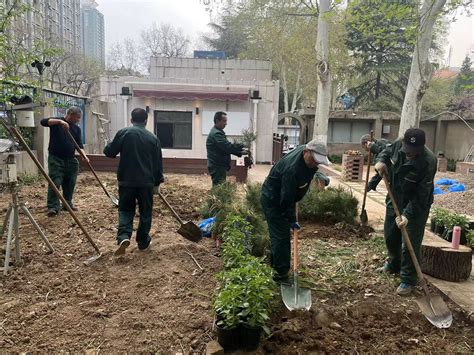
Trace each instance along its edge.
<path fill-rule="evenodd" d="M 388 191 L 388 195 L 390 196 L 390 200 L 392 201 L 393 209 L 397 217 L 400 217 L 400 211 L 398 209 L 397 203 L 393 198 L 392 190 L 390 188 L 390 184 L 387 179 L 387 175 L 385 172 L 382 173 L 383 180 L 385 182 L 385 186 Z M 410 252 L 411 260 L 413 261 L 413 265 L 415 265 L 416 274 L 419 279 L 419 283 L 423 288 L 424 295 L 419 296 L 415 299 L 415 302 L 418 304 L 418 307 L 421 310 L 421 313 L 429 320 L 431 324 L 433 324 L 437 328 L 449 328 L 451 323 L 453 322 L 453 315 L 448 308 L 448 305 L 441 296 L 434 296 L 430 294 L 428 289 L 428 285 L 426 283 L 426 279 L 421 272 L 420 264 L 415 255 L 415 251 L 413 250 L 413 246 L 411 245 L 410 236 L 408 235 L 407 229 L 405 226 L 401 228 L 403 242 L 407 246 L 408 251 Z"/>

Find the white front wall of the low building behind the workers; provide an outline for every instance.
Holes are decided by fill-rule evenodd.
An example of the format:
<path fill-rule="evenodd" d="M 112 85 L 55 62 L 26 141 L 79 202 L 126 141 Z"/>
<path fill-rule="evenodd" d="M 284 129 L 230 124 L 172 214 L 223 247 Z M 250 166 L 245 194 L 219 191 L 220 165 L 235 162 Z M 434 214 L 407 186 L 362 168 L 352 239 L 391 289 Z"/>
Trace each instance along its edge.
<path fill-rule="evenodd" d="M 162 58 L 161 58 L 162 59 Z M 157 62 L 160 58 L 155 59 Z M 178 58 L 180 59 L 180 58 Z M 271 63 L 268 61 L 223 61 L 203 59 L 196 60 L 192 58 L 177 59 L 179 65 L 189 65 L 189 68 L 176 67 L 174 74 L 169 72 L 170 77 L 161 78 L 132 78 L 132 77 L 102 77 L 100 94 L 101 100 L 108 103 L 108 119 L 111 120 L 110 135 L 113 137 L 115 133 L 124 127 L 124 115 L 127 117 L 127 124 L 130 125 L 130 113 L 136 107 L 150 107 L 147 128 L 153 132 L 155 110 L 170 111 L 190 111 L 193 114 L 193 142 L 192 149 L 164 149 L 165 157 L 182 157 L 182 158 L 206 158 L 206 139 L 208 132 L 202 132 L 202 113 L 225 111 L 229 113 L 229 121 L 232 121 L 232 112 L 248 112 L 250 120 L 254 116 L 254 104 L 249 99 L 247 101 L 210 101 L 210 100 L 159 100 L 156 98 L 134 97 L 127 100 L 127 110 L 124 112 L 124 100 L 120 95 L 121 88 L 127 86 L 130 91 L 133 90 L 175 90 L 175 91 L 202 91 L 202 92 L 251 92 L 259 90 L 262 97 L 258 103 L 257 114 L 257 162 L 271 162 L 272 160 L 272 142 L 273 133 L 277 133 L 278 124 L 278 95 L 279 82 L 270 80 Z M 173 62 L 169 60 L 170 64 Z M 183 64 L 184 63 L 184 64 Z M 194 64 L 193 64 L 194 63 Z M 202 64 L 203 66 L 213 66 L 214 74 L 220 73 L 223 65 L 232 68 L 232 76 L 245 77 L 246 79 L 225 80 L 208 78 L 198 79 L 193 65 Z M 168 65 L 167 64 L 167 65 Z M 221 67 L 219 67 L 221 65 Z M 153 65 L 152 65 L 153 67 Z M 171 68 L 170 65 L 167 66 Z M 240 68 L 240 69 L 239 69 Z M 164 70 L 155 66 L 159 72 Z M 209 69 L 210 70 L 210 69 Z M 229 69 L 230 70 L 230 69 Z M 241 72 L 239 72 L 241 70 Z M 194 73 L 194 74 L 193 74 Z M 254 78 L 258 73 L 258 79 Z M 155 75 L 158 75 L 155 73 Z M 189 75 L 189 78 L 184 76 Z M 174 77 L 173 77 L 174 76 Z M 199 107 L 200 114 L 196 115 L 195 109 Z M 234 117 L 235 119 L 236 117 Z M 232 141 L 232 136 L 228 136 Z"/>

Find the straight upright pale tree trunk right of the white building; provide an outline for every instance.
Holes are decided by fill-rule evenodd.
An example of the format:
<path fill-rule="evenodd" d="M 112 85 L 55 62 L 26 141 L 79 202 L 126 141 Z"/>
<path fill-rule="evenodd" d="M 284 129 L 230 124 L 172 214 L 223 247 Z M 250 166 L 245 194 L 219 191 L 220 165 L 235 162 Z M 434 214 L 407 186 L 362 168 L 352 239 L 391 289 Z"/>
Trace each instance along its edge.
<path fill-rule="evenodd" d="M 313 139 L 324 144 L 326 144 L 328 140 L 329 105 L 331 102 L 329 31 L 327 22 L 330 7 L 331 0 L 319 1 L 318 34 L 316 36 L 318 92 L 316 98 Z"/>

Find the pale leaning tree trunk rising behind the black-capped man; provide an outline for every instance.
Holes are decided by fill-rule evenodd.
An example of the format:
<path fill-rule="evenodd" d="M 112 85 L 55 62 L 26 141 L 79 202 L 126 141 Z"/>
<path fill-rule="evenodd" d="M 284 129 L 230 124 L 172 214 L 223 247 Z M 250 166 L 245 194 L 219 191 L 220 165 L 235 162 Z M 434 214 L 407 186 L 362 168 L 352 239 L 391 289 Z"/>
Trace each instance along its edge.
<path fill-rule="evenodd" d="M 433 40 L 433 27 L 445 3 L 446 0 L 425 0 L 420 10 L 419 36 L 413 52 L 410 77 L 403 101 L 399 137 L 403 137 L 408 128 L 420 126 L 421 100 L 431 76 L 428 55 Z"/>

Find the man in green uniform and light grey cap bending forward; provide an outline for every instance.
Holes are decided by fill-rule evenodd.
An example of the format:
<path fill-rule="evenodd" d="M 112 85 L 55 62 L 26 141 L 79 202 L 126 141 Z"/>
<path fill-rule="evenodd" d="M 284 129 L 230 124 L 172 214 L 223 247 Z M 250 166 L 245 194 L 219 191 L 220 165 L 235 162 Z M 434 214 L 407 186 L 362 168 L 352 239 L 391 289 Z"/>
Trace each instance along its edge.
<path fill-rule="evenodd" d="M 327 148 L 311 141 L 286 154 L 273 166 L 263 183 L 260 201 L 270 232 L 271 264 L 278 282 L 288 281 L 290 231 L 301 228 L 296 219 L 296 202 L 308 191 L 319 164 L 329 165 Z"/>

